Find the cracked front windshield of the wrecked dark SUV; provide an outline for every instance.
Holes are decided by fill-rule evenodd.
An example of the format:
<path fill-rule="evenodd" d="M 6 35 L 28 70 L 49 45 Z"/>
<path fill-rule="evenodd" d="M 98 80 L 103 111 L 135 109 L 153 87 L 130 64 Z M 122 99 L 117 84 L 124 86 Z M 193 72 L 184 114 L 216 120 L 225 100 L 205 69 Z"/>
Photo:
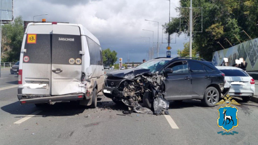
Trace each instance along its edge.
<path fill-rule="evenodd" d="M 150 61 L 142 63 L 141 65 L 137 66 L 136 68 L 150 69 L 150 72 L 156 72 L 162 66 L 164 66 L 168 61 L 169 60 L 150 60 Z"/>

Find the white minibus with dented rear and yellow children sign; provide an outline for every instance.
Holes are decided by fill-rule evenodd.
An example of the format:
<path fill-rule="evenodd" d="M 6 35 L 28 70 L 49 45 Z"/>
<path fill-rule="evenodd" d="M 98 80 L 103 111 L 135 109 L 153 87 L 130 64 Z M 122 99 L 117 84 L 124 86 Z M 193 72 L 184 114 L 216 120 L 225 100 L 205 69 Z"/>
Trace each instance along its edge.
<path fill-rule="evenodd" d="M 79 101 L 96 108 L 105 76 L 100 42 L 92 33 L 80 24 L 29 23 L 23 40 L 21 104 Z"/>

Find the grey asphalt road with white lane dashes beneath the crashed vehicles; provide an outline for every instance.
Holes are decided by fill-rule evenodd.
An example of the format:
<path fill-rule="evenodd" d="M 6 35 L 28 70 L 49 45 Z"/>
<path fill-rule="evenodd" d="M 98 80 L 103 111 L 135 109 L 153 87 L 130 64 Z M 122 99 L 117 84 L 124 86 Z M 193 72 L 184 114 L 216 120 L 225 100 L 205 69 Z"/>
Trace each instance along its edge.
<path fill-rule="evenodd" d="M 222 136 L 217 133 L 224 131 L 217 126 L 219 106 L 203 107 L 199 100 L 170 103 L 169 117 L 178 126 L 173 129 L 175 124 L 164 115 L 132 113 L 123 116 L 123 107 L 116 106 L 104 96 L 99 97 L 101 100 L 96 109 L 83 108 L 75 103 L 56 103 L 43 108 L 33 104 L 20 105 L 17 87 L 1 89 L 15 85 L 9 82 L 17 82 L 17 76 L 1 72 L 2 78 L 8 77 L 0 79 L 1 145 L 242 145 L 258 142 L 257 103 L 243 103 L 242 99 L 234 98 L 241 105 L 237 106 L 239 126 L 232 131 L 239 133 Z M 33 113 L 36 115 L 26 118 Z M 14 124 L 17 121 L 19 124 Z"/>

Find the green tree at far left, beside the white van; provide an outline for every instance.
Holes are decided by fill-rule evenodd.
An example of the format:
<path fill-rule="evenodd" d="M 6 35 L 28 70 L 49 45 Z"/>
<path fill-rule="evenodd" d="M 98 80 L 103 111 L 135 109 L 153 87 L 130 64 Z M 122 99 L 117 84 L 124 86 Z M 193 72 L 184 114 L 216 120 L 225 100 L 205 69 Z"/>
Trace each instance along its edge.
<path fill-rule="evenodd" d="M 22 39 L 24 35 L 22 16 L 14 22 L 2 26 L 2 55 L 3 62 L 17 62 L 20 58 Z"/>

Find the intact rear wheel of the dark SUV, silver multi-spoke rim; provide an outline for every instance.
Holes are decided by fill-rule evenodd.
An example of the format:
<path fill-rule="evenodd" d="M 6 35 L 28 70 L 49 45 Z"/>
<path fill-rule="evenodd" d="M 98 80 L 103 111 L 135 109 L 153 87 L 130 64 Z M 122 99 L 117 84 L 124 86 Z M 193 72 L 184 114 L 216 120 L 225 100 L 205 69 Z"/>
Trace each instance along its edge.
<path fill-rule="evenodd" d="M 213 107 L 219 101 L 219 91 L 215 87 L 205 89 L 202 103 L 204 106 Z"/>

